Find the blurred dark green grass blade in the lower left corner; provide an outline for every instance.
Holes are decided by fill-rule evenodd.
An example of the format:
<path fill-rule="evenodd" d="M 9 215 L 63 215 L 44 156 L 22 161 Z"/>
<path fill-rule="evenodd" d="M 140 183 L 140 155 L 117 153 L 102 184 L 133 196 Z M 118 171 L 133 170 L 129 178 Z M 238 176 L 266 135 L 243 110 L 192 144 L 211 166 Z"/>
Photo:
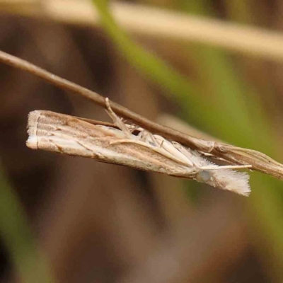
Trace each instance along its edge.
<path fill-rule="evenodd" d="M 45 256 L 35 244 L 25 212 L 0 164 L 0 235 L 16 272 L 25 283 L 54 283 Z"/>

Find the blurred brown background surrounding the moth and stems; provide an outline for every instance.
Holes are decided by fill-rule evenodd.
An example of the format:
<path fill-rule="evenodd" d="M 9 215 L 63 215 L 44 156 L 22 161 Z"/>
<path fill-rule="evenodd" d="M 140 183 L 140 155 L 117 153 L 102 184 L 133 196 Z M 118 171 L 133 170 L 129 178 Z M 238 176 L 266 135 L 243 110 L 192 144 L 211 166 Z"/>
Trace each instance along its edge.
<path fill-rule="evenodd" d="M 185 13 L 176 3 L 186 7 L 190 1 L 133 2 Z M 215 18 L 282 30 L 279 0 L 246 1 L 253 11 L 246 18 L 238 6 L 233 7 L 234 2 L 213 0 L 209 6 Z M 191 56 L 187 59 L 184 43 L 138 34 L 133 37 L 191 80 L 197 79 L 197 62 Z M 163 112 L 180 114 L 180 105 L 129 64 L 98 27 L 4 9 L 0 13 L 0 50 L 152 120 Z M 262 89 L 258 96 L 279 143 L 282 65 L 240 54 L 229 56 L 237 62 L 238 74 Z M 282 282 L 281 258 L 270 251 L 269 231 L 258 230 L 255 222 L 260 218 L 254 216 L 253 205 L 247 204 L 246 198 L 166 175 L 32 151 L 25 146 L 27 115 L 32 110 L 96 120 L 109 121 L 109 117 L 97 105 L 4 64 L 0 64 L 0 89 L 1 165 L 57 282 Z M 261 139 L 260 134 L 255 139 Z M 272 157 L 283 160 L 282 152 Z M 272 185 L 266 190 L 272 190 Z M 278 215 L 281 221 L 283 214 Z M 2 241 L 1 282 L 22 282 L 8 250 Z M 23 257 L 28 258 L 28 248 L 26 253 Z"/>

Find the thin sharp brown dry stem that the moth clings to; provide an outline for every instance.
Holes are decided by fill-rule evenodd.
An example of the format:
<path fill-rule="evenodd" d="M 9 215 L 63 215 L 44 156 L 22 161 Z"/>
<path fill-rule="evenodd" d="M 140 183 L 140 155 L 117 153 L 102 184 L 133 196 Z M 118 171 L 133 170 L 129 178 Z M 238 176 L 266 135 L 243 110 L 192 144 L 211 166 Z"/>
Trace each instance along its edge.
<path fill-rule="evenodd" d="M 8 64 L 17 69 L 23 71 L 28 71 L 30 74 L 44 79 L 48 83 L 53 84 L 59 88 L 62 88 L 64 91 L 71 91 L 73 93 L 79 94 L 92 100 L 94 103 L 97 103 L 103 108 L 106 108 L 105 98 L 100 96 L 94 91 L 90 91 L 87 88 L 83 88 L 76 83 L 72 83 L 66 79 L 62 79 L 59 76 L 56 76 L 49 71 L 35 66 L 23 59 L 15 57 L 11 54 L 3 52 L 0 50 L 0 62 Z M 221 144 L 216 141 L 207 141 L 205 139 L 197 139 L 182 132 L 178 132 L 174 129 L 164 127 L 159 125 L 151 120 L 138 115 L 127 108 L 110 102 L 112 110 L 117 113 L 120 117 L 126 118 L 129 121 L 134 122 L 135 125 L 147 129 L 153 134 L 161 134 L 161 136 L 172 141 L 178 141 L 180 144 L 190 147 L 191 149 L 197 149 L 204 153 L 212 154 L 213 156 L 223 158 L 224 160 L 231 161 L 234 164 L 247 165 L 250 164 L 253 166 L 253 170 L 260 171 L 262 173 L 267 173 L 276 178 L 283 179 L 283 165 L 274 161 L 272 158 L 266 156 L 265 154 L 260 153 L 259 151 L 253 151 L 250 149 L 242 149 L 236 146 L 231 146 L 229 144 Z M 88 120 L 89 122 L 89 120 Z"/>

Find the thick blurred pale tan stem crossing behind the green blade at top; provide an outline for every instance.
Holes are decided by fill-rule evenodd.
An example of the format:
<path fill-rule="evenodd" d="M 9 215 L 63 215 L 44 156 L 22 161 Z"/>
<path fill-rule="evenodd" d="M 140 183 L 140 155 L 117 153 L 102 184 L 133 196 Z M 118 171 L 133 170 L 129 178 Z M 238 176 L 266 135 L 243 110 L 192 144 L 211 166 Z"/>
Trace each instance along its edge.
<path fill-rule="evenodd" d="M 0 0 L 0 8 L 2 11 L 36 18 L 44 16 L 53 21 L 76 25 L 98 25 L 99 15 L 90 2 Z M 188 16 L 145 5 L 110 2 L 110 10 L 117 23 L 132 33 L 154 38 L 201 42 L 277 61 L 283 59 L 283 37 L 274 30 Z"/>

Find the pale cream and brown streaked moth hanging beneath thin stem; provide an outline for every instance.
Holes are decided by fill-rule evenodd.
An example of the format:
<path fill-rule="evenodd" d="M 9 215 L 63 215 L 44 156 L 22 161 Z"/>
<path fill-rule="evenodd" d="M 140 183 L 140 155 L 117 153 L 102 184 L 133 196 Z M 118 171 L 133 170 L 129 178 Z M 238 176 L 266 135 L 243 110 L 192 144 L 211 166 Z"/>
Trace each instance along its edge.
<path fill-rule="evenodd" d="M 196 150 L 125 124 L 108 98 L 105 103 L 115 126 L 47 110 L 30 112 L 27 146 L 193 179 L 240 195 L 250 193 L 249 175 L 235 170 L 250 165 L 218 166 Z"/>

